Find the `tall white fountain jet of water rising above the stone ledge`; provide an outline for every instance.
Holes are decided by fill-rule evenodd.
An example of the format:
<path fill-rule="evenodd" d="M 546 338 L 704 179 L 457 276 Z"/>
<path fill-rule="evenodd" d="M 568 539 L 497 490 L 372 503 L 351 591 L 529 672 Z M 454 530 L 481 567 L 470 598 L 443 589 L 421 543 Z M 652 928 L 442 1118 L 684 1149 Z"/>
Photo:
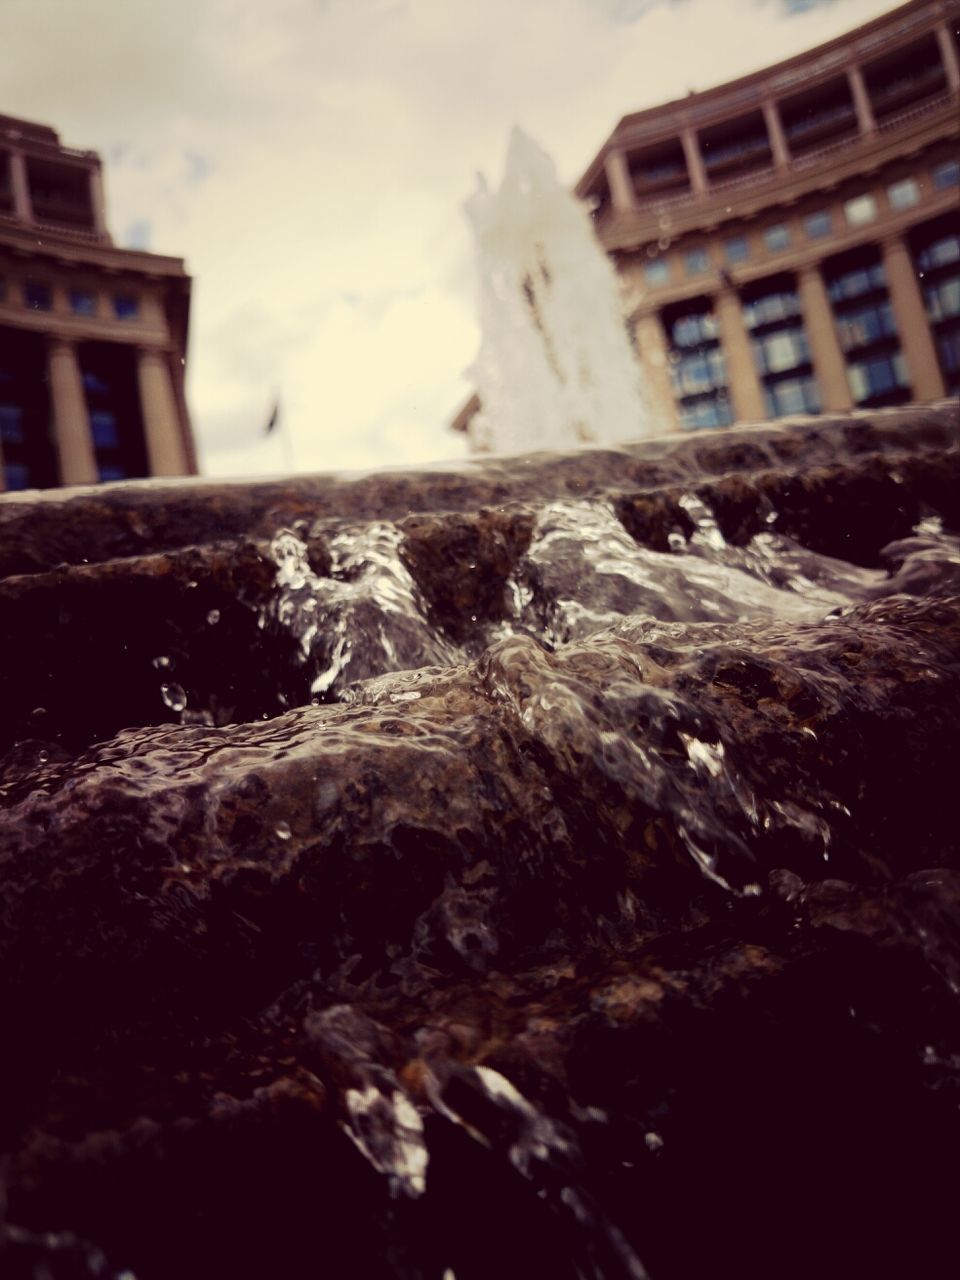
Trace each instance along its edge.
<path fill-rule="evenodd" d="M 553 160 L 515 128 L 499 189 L 480 175 L 465 210 L 480 273 L 477 445 L 521 452 L 653 434 L 616 274 Z"/>

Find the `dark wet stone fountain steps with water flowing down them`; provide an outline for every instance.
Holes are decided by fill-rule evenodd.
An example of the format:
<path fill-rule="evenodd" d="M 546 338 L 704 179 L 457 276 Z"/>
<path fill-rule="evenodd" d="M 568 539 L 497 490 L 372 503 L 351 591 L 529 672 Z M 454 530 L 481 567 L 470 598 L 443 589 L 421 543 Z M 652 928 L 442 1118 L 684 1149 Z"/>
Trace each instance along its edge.
<path fill-rule="evenodd" d="M 0 1275 L 951 1275 L 959 440 L 0 499 Z"/>

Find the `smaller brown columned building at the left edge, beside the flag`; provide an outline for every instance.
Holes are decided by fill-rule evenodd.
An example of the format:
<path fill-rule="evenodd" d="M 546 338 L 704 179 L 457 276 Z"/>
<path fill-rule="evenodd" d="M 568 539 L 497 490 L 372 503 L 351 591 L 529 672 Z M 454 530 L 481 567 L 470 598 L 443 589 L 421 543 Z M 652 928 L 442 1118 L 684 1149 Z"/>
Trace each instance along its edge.
<path fill-rule="evenodd" d="M 189 289 L 113 244 L 95 152 L 0 115 L 0 489 L 196 474 Z"/>

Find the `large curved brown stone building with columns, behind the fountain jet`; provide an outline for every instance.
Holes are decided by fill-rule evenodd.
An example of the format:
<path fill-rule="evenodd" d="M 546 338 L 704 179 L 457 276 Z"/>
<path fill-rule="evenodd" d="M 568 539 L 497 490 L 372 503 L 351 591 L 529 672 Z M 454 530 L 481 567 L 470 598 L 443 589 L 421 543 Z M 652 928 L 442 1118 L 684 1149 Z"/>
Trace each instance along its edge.
<path fill-rule="evenodd" d="M 604 142 L 576 192 L 664 429 L 960 390 L 959 28 L 911 0 Z"/>

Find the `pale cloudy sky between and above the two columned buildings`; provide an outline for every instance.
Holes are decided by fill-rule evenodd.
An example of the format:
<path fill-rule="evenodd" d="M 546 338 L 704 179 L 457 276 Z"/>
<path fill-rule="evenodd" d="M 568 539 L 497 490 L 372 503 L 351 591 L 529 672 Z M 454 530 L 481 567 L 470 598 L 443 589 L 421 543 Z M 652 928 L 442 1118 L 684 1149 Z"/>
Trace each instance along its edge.
<path fill-rule="evenodd" d="M 3 0 L 0 111 L 106 163 L 120 244 L 195 278 L 204 470 L 463 454 L 462 202 L 522 125 L 573 183 L 627 111 L 890 0 Z M 282 429 L 264 435 L 274 398 Z"/>

